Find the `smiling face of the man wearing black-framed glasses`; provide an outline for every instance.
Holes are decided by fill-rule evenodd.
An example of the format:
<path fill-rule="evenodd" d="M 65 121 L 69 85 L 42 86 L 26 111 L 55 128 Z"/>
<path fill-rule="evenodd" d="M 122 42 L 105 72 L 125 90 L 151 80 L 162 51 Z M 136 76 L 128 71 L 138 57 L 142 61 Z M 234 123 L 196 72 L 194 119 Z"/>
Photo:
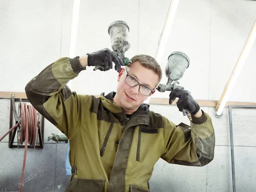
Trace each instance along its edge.
<path fill-rule="evenodd" d="M 158 75 L 154 73 L 153 70 L 149 70 L 143 67 L 138 61 L 131 64 L 131 67 L 128 67 L 127 72 L 128 73 L 126 73 L 125 69 L 122 68 L 118 75 L 117 81 L 119 83 L 117 86 L 115 96 L 116 98 L 114 99 L 114 101 L 117 105 L 119 105 L 125 110 L 125 113 L 132 114 L 149 96 L 151 96 L 154 93 L 151 93 L 149 96 L 145 96 L 142 94 L 145 93 L 145 90 L 147 90 L 146 87 L 148 87 L 151 90 L 154 90 L 158 82 Z M 127 77 L 127 74 L 131 77 Z M 136 84 L 137 81 L 142 85 L 140 86 L 138 84 L 135 87 L 131 87 L 126 83 L 129 82 L 128 78 L 130 78 L 130 81 L 132 80 L 133 82 L 135 82 L 134 84 Z M 139 92 L 139 87 L 140 92 L 142 93 Z"/>

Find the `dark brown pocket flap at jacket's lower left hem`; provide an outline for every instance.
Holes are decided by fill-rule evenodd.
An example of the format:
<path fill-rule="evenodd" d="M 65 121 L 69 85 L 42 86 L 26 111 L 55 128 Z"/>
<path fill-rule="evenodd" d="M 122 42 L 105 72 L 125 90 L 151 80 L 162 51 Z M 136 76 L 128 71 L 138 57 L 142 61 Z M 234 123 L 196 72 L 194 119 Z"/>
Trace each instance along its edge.
<path fill-rule="evenodd" d="M 102 192 L 105 179 L 79 179 L 73 178 L 65 192 Z"/>

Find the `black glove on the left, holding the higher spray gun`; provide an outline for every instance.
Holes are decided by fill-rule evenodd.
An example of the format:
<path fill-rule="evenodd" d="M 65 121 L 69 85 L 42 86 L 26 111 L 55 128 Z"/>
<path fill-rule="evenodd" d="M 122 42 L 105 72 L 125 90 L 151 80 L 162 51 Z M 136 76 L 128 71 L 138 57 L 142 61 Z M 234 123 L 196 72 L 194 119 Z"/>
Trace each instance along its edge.
<path fill-rule="evenodd" d="M 122 59 L 117 58 L 110 49 L 105 48 L 96 52 L 88 53 L 88 66 L 97 66 L 101 71 L 108 71 L 113 68 L 112 61 L 115 63 L 115 70 L 119 72 L 121 65 L 124 66 Z"/>

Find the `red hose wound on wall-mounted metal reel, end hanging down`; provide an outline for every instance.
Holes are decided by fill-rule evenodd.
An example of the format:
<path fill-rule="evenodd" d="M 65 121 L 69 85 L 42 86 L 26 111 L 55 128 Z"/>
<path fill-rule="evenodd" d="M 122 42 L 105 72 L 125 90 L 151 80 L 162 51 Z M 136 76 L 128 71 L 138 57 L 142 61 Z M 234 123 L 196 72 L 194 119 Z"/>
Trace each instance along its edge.
<path fill-rule="evenodd" d="M 28 105 L 28 99 L 24 99 L 25 103 L 19 99 L 15 99 L 15 95 L 12 95 L 11 108 L 10 108 L 10 129 L 4 134 L 0 141 L 3 140 L 9 134 L 9 148 L 17 146 L 17 148 L 24 147 L 24 157 L 22 173 L 20 178 L 20 189 L 21 192 L 23 186 L 23 176 L 26 165 L 26 152 L 28 144 L 32 148 L 38 146 L 38 138 L 40 142 L 40 148 L 44 148 L 44 117 L 36 111 L 32 105 Z M 19 101 L 18 112 L 16 111 L 15 101 Z M 15 117 L 15 125 L 12 126 L 12 117 Z M 42 122 L 40 125 L 40 122 Z M 41 132 L 43 131 L 43 132 Z M 13 145 L 15 134 L 17 132 L 17 145 Z M 25 146 L 23 145 L 25 143 Z"/>

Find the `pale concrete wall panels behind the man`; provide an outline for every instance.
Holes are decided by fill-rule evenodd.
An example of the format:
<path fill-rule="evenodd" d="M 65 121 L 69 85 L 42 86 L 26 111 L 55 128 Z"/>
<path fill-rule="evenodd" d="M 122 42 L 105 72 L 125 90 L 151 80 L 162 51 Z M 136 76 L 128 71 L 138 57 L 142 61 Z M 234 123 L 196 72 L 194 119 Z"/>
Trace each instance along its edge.
<path fill-rule="evenodd" d="M 60 57 L 68 56 L 71 0 L 0 0 L 0 91 L 24 92 L 26 83 Z M 107 32 L 113 20 L 130 26 L 131 49 L 126 55 L 155 55 L 157 42 L 169 8 L 159 0 L 81 1 L 76 55 L 111 48 Z M 180 83 L 195 99 L 218 100 L 236 64 L 256 19 L 256 2 L 249 0 L 180 0 L 168 47 L 161 65 L 172 51 L 183 51 L 191 65 Z M 244 65 L 230 101 L 256 102 L 253 82 L 256 43 Z M 90 67 L 72 81 L 81 94 L 108 93 L 116 88 L 116 72 L 104 75 Z M 163 77 L 162 82 L 166 82 Z M 93 82 L 93 83 L 88 83 Z M 111 82 L 111 83 L 110 83 Z M 97 88 L 95 88 L 97 86 Z M 168 98 L 169 93 L 154 97 Z M 17 105 L 17 103 L 16 103 Z M 202 108 L 212 117 L 216 134 L 215 158 L 207 166 L 187 167 L 159 160 L 150 180 L 151 191 L 232 191 L 229 120 L 227 108 L 221 119 L 214 108 Z M 10 100 L 0 99 L 0 136 L 9 128 Z M 175 123 L 189 123 L 176 106 L 151 105 Z M 256 191 L 255 109 L 233 109 L 236 189 Z M 44 149 L 28 149 L 23 191 L 64 191 L 64 157 L 67 145 L 47 141 L 60 133 L 47 120 Z M 8 137 L 0 143 L 0 192 L 17 191 L 23 149 L 8 148 Z"/>

